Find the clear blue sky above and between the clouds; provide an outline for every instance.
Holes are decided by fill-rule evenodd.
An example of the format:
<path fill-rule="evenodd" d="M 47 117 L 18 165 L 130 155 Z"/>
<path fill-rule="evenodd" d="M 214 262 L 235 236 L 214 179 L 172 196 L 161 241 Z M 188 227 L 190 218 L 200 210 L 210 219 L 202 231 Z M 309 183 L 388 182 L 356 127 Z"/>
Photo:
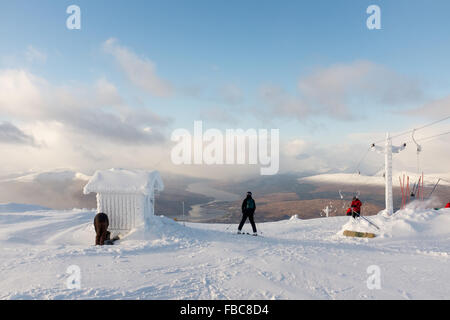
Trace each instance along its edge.
<path fill-rule="evenodd" d="M 65 27 L 71 4 L 81 8 L 81 30 Z M 381 8 L 382 30 L 366 27 L 371 4 Z M 106 79 L 132 108 L 171 118 L 171 128 L 191 128 L 201 119 L 208 127 L 230 127 L 230 122 L 205 116 L 205 110 L 222 110 L 227 115 L 219 117 L 238 119 L 235 126 L 282 128 L 287 140 L 333 143 L 351 133 L 402 131 L 426 122 L 422 114 L 405 114 L 449 94 L 446 0 L 2 0 L 0 7 L 1 69 L 26 69 L 58 87 L 92 86 Z M 176 93 L 157 97 L 131 83 L 115 56 L 105 53 L 103 45 L 111 38 L 120 48 L 154 63 L 157 77 Z M 45 58 L 27 61 L 30 46 Z M 361 97 L 361 88 L 354 92 L 350 83 L 344 88 L 351 91 L 345 93 L 349 114 L 315 113 L 313 99 L 308 101 L 311 115 L 302 118 L 292 107 L 278 117 L 278 105 L 268 107 L 261 98 L 262 88 L 270 87 L 283 92 L 275 104 L 303 102 L 299 83 L 309 88 L 315 85 L 311 77 L 320 76 L 320 71 L 332 72 L 336 65 L 354 71 L 358 61 L 370 64 L 367 76 L 375 72 L 376 81 L 393 75 L 387 87 L 410 84 L 405 92 L 417 90 L 417 99 L 374 101 L 374 91 L 389 88 L 376 87 L 368 94 L 364 87 Z M 230 88 L 237 90 L 235 102 L 221 94 Z M 5 113 L 2 118 L 11 120 Z"/>

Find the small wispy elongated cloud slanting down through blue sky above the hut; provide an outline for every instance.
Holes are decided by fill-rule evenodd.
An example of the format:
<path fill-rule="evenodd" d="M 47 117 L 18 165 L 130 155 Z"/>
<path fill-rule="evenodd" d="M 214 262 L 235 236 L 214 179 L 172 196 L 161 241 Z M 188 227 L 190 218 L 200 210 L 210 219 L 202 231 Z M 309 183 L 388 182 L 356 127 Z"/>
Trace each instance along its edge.
<path fill-rule="evenodd" d="M 156 74 L 155 64 L 138 57 L 130 49 L 120 46 L 116 39 L 108 39 L 103 43 L 104 50 L 113 55 L 127 78 L 137 87 L 158 97 L 172 94 L 172 85 Z"/>

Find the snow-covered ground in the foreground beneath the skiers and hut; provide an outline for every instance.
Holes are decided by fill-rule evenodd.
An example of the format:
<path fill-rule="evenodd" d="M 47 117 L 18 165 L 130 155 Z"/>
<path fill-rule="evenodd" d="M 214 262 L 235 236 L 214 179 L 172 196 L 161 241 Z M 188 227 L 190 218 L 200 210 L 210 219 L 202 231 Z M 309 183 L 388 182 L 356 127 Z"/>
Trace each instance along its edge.
<path fill-rule="evenodd" d="M 155 217 L 114 246 L 95 247 L 85 210 L 0 214 L 0 299 L 449 299 L 450 209 L 411 204 L 393 217 L 259 224 L 261 237 L 223 224 Z M 249 231 L 249 226 L 245 226 Z M 358 230 L 356 230 L 358 229 Z M 68 289 L 76 265 L 81 288 Z M 368 267 L 381 289 L 369 289 Z M 370 271 L 370 269 L 369 269 Z"/>

